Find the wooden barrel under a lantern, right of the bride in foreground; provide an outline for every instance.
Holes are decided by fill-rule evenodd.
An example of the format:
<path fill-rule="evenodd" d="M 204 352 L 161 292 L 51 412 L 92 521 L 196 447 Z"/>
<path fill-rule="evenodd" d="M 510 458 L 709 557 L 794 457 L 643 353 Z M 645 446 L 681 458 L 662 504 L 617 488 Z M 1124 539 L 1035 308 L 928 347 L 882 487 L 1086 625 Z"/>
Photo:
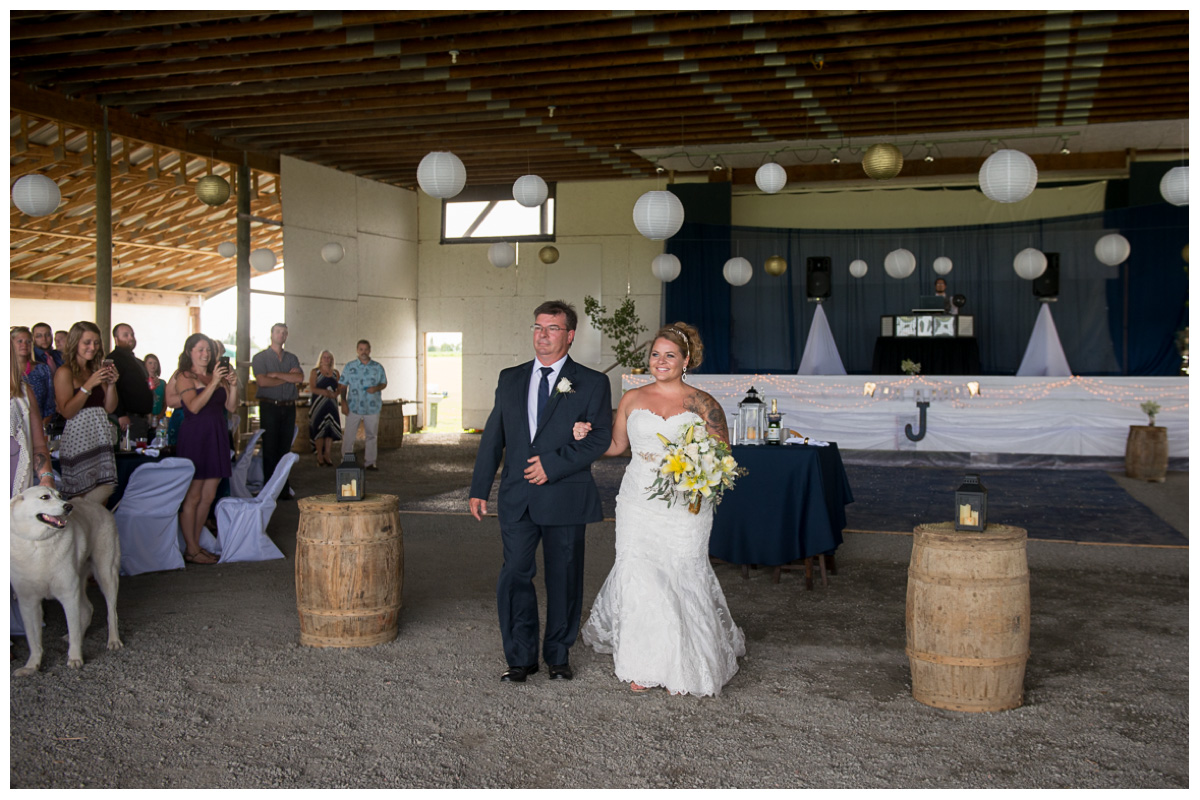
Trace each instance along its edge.
<path fill-rule="evenodd" d="M 954 711 L 1021 704 L 1030 655 L 1025 530 L 913 530 L 905 608 L 912 696 Z"/>

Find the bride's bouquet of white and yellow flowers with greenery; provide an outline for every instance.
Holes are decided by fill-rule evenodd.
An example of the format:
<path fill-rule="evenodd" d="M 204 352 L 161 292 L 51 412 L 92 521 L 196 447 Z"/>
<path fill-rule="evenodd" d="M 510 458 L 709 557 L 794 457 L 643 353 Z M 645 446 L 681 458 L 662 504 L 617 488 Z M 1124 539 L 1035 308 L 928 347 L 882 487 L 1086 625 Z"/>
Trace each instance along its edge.
<path fill-rule="evenodd" d="M 709 434 L 703 422 L 683 426 L 676 441 L 661 433 L 658 437 L 667 451 L 648 488 L 652 500 L 666 500 L 668 507 L 677 500 L 686 500 L 688 510 L 700 513 L 704 498 L 715 506 L 725 489 L 733 488 L 738 475 L 746 474 L 746 469 L 733 461 L 730 446 Z"/>

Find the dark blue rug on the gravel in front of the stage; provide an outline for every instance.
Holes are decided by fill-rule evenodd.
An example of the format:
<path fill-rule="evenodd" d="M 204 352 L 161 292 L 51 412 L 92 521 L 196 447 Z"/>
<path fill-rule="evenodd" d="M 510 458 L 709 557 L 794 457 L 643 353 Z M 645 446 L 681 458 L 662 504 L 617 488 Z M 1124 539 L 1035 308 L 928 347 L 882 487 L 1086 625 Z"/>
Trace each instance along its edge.
<path fill-rule="evenodd" d="M 592 468 L 605 517 L 612 518 L 628 458 L 605 458 Z M 1174 545 L 1188 540 L 1134 500 L 1109 475 L 1085 469 L 962 470 L 934 467 L 847 464 L 854 501 L 846 506 L 847 530 L 912 533 L 916 525 L 954 518 L 954 491 L 966 471 L 979 473 L 988 488 L 988 521 L 1015 525 L 1030 539 L 1112 545 Z M 737 491 L 737 489 L 734 489 Z M 468 487 L 425 500 L 403 503 L 401 511 L 467 511 Z M 496 512 L 496 485 L 488 498 Z"/>

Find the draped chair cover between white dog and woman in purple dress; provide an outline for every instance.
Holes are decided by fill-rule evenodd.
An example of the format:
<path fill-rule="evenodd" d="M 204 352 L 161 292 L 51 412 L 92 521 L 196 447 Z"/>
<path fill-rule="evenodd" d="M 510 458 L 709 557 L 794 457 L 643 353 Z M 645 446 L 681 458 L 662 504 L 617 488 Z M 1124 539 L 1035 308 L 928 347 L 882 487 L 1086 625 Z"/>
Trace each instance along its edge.
<path fill-rule="evenodd" d="M 179 506 L 194 471 L 187 458 L 163 458 L 133 470 L 113 512 L 121 540 L 121 575 L 184 569 Z"/>

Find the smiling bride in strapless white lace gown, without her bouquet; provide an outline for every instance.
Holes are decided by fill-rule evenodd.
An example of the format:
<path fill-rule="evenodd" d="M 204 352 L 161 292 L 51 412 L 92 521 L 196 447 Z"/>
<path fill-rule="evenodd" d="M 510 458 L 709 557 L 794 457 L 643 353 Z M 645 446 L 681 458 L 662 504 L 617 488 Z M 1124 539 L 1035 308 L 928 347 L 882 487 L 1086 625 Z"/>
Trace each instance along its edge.
<path fill-rule="evenodd" d="M 698 419 L 728 441 L 721 407 L 683 383 L 702 347 L 684 323 L 658 332 L 649 354 L 654 383 L 622 397 L 605 452 L 630 447 L 632 457 L 617 494 L 617 559 L 582 634 L 598 652 L 612 654 L 613 672 L 635 692 L 662 686 L 672 694 L 720 694 L 745 655 L 745 636 L 708 561 L 712 504 L 694 515 L 686 503 L 668 507 L 648 497 L 665 452 L 656 434 L 674 440 Z M 576 438 L 588 429 L 576 423 Z"/>

